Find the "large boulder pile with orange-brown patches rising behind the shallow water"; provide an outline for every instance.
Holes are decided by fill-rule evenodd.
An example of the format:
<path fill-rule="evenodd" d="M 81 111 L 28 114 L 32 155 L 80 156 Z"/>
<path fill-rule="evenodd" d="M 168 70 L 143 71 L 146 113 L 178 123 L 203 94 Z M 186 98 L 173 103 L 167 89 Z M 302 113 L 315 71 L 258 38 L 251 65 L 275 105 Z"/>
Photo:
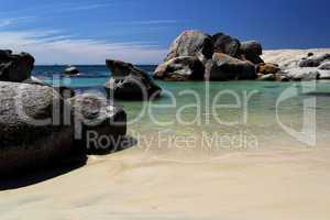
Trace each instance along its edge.
<path fill-rule="evenodd" d="M 263 63 L 262 46 L 218 33 L 185 31 L 170 45 L 165 63 L 154 77 L 161 80 L 241 80 L 255 79 L 255 65 Z"/>

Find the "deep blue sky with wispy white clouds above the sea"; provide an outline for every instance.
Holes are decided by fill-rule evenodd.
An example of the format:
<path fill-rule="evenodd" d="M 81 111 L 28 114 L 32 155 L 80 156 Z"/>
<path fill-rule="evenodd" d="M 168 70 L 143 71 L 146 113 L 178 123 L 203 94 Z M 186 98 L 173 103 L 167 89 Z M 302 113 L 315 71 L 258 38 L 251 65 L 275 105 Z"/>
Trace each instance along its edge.
<path fill-rule="evenodd" d="M 329 0 L 0 0 L 0 48 L 36 64 L 157 64 L 185 30 L 264 48 L 330 47 Z"/>

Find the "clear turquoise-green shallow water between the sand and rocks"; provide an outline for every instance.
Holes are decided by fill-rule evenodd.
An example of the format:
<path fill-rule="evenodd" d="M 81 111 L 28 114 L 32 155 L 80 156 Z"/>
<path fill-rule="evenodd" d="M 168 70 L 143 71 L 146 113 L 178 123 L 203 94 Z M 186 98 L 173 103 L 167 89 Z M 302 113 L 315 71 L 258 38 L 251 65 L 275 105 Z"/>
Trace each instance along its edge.
<path fill-rule="evenodd" d="M 152 73 L 154 67 L 141 68 Z M 59 80 L 62 85 L 80 92 L 94 88 L 102 90 L 102 85 L 110 76 L 107 68 L 96 66 L 82 69 L 86 73 L 79 77 L 57 77 L 55 81 Z M 34 75 L 52 82 L 53 72 L 58 76 L 61 68 L 40 67 Z M 207 147 L 210 152 L 256 147 L 327 147 L 330 141 L 329 81 L 156 82 L 164 89 L 161 99 L 150 103 L 118 102 L 129 116 L 129 133 L 139 140 L 142 147 L 182 145 L 180 150 L 187 154 L 189 146 Z M 276 106 L 282 96 L 293 91 L 297 94 Z M 305 124 L 304 119 L 307 121 Z M 312 129 L 314 123 L 316 130 Z M 312 142 L 314 135 L 301 141 L 301 138 L 287 131 L 301 133 L 304 128 L 308 131 L 302 136 L 309 136 L 308 132 L 315 131 L 315 144 L 308 143 Z"/>

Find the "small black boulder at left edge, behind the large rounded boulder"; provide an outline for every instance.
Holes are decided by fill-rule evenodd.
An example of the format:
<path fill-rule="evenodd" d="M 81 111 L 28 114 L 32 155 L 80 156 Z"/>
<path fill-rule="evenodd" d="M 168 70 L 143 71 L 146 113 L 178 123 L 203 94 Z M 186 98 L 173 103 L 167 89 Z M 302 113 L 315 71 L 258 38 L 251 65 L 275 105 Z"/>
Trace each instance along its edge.
<path fill-rule="evenodd" d="M 0 80 L 22 82 L 30 78 L 34 67 L 34 57 L 28 53 L 12 54 L 0 51 Z"/>

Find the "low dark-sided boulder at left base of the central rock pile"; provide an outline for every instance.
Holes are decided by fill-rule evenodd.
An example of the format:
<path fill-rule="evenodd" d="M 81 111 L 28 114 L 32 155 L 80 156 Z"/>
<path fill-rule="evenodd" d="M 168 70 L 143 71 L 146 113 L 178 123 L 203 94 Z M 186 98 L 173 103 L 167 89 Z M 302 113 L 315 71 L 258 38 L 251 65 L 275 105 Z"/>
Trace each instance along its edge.
<path fill-rule="evenodd" d="M 194 56 L 180 56 L 161 64 L 154 72 L 155 79 L 168 81 L 204 80 L 205 67 Z"/>

